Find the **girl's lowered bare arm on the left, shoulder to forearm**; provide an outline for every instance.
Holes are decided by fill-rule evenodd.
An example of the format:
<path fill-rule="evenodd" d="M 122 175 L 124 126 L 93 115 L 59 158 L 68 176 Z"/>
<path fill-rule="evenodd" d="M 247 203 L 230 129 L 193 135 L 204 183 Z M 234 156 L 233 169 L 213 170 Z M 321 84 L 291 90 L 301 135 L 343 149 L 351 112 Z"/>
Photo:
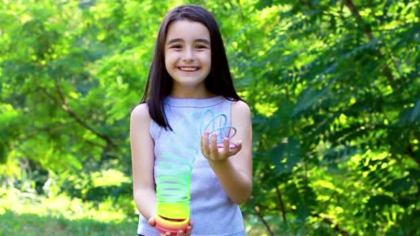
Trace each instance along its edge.
<path fill-rule="evenodd" d="M 131 112 L 130 144 L 133 165 L 133 197 L 140 213 L 150 219 L 155 215 L 156 191 L 153 178 L 154 143 L 149 128 L 151 117 L 146 104 Z"/>

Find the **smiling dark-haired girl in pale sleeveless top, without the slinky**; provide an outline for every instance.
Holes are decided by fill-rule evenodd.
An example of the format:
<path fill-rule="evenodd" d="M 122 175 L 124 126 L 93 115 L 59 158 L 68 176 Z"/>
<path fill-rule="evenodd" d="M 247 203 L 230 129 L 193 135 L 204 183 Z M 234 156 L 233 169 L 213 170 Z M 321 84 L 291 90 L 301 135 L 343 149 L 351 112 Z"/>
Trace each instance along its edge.
<path fill-rule="evenodd" d="M 236 135 L 218 141 L 202 124 L 220 113 Z M 131 112 L 130 138 L 139 235 L 161 235 L 155 228 L 159 164 L 168 161 L 165 152 L 182 155 L 186 147 L 198 150 L 191 220 L 178 235 L 245 235 L 238 204 L 252 188 L 251 112 L 233 88 L 222 36 L 204 8 L 178 6 L 164 18 L 142 102 Z"/>

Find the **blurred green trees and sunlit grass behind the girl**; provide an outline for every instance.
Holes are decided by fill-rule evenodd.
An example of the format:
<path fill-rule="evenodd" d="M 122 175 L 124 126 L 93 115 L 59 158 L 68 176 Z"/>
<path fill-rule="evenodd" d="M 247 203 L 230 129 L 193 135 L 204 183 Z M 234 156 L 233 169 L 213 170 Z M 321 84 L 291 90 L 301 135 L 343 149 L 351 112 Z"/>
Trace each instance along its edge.
<path fill-rule="evenodd" d="M 215 14 L 253 113 L 249 235 L 420 235 L 408 0 L 0 0 L 0 235 L 135 235 L 129 110 L 180 3 Z"/>

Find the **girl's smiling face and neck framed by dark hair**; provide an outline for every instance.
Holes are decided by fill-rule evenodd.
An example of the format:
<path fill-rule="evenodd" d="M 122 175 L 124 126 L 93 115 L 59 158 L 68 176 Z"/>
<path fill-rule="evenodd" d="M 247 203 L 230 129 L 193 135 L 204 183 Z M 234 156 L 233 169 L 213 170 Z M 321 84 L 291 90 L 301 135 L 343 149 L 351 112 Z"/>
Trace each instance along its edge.
<path fill-rule="evenodd" d="M 166 34 L 165 67 L 176 97 L 205 95 L 204 79 L 211 68 L 210 33 L 195 21 L 174 21 Z"/>

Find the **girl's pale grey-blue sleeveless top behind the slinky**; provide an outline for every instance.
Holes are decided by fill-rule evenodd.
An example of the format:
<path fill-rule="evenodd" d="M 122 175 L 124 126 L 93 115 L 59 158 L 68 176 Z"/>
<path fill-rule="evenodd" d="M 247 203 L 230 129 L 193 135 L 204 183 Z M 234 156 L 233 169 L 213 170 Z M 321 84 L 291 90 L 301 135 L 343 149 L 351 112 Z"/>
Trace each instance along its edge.
<path fill-rule="evenodd" d="M 245 235 L 238 204 L 227 196 L 200 149 L 200 140 L 206 129 L 204 126 L 211 123 L 213 115 L 225 114 L 227 119 L 219 119 L 218 122 L 225 122 L 222 125 L 231 126 L 231 101 L 222 96 L 209 99 L 166 97 L 164 110 L 173 132 L 169 128 L 165 130 L 158 126 L 153 120 L 149 130 L 155 142 L 155 184 L 159 184 L 157 177 L 164 175 L 160 172 L 162 166 L 159 164 L 168 161 L 165 153 L 175 153 L 182 159 L 188 159 L 192 168 L 190 217 L 194 225 L 191 235 Z M 215 127 L 209 126 L 207 130 L 211 132 L 212 128 Z M 149 226 L 142 214 L 139 216 L 137 233 L 146 236 L 160 235 L 155 227 Z"/>

